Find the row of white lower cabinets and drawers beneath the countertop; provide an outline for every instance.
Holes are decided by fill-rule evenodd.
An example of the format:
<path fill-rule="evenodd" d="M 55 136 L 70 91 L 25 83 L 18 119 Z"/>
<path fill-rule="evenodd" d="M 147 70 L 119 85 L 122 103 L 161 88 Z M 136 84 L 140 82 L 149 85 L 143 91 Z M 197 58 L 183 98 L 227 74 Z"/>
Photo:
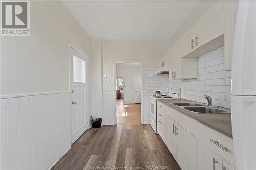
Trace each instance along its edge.
<path fill-rule="evenodd" d="M 163 103 L 159 106 L 158 133 L 182 170 L 236 170 L 232 139 Z M 210 139 L 219 141 L 227 151 Z"/>

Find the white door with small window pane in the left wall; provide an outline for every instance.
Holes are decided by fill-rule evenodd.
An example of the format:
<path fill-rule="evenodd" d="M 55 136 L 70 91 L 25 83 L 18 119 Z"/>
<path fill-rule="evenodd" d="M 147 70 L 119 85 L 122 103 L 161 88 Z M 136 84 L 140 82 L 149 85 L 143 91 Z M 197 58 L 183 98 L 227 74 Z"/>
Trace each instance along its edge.
<path fill-rule="evenodd" d="M 87 57 L 70 49 L 71 136 L 74 143 L 87 130 Z"/>

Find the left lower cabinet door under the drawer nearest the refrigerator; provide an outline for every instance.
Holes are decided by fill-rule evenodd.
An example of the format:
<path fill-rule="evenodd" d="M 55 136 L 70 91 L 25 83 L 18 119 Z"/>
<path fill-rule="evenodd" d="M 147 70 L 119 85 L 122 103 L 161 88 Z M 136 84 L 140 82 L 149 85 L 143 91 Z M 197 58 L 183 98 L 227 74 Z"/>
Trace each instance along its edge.
<path fill-rule="evenodd" d="M 215 163 L 214 163 L 215 161 Z M 215 168 L 214 168 L 215 164 Z M 221 170 L 222 158 L 197 140 L 197 170 Z"/>

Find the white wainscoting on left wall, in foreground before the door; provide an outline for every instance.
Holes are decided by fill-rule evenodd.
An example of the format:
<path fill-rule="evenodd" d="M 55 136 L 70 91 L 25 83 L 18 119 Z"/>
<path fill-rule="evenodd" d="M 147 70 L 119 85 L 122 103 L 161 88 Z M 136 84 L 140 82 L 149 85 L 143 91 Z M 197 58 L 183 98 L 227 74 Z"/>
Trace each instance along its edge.
<path fill-rule="evenodd" d="M 0 169 L 49 169 L 70 149 L 70 93 L 0 102 Z"/>

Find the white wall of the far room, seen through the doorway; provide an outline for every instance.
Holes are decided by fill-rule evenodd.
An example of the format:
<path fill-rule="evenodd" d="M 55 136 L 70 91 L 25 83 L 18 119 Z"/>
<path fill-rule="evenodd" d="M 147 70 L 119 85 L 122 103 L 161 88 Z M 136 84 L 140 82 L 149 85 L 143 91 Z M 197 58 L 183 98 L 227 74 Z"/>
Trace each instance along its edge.
<path fill-rule="evenodd" d="M 141 75 L 140 64 L 117 63 L 116 74 L 123 76 L 123 101 L 125 104 L 135 103 L 134 76 Z"/>

